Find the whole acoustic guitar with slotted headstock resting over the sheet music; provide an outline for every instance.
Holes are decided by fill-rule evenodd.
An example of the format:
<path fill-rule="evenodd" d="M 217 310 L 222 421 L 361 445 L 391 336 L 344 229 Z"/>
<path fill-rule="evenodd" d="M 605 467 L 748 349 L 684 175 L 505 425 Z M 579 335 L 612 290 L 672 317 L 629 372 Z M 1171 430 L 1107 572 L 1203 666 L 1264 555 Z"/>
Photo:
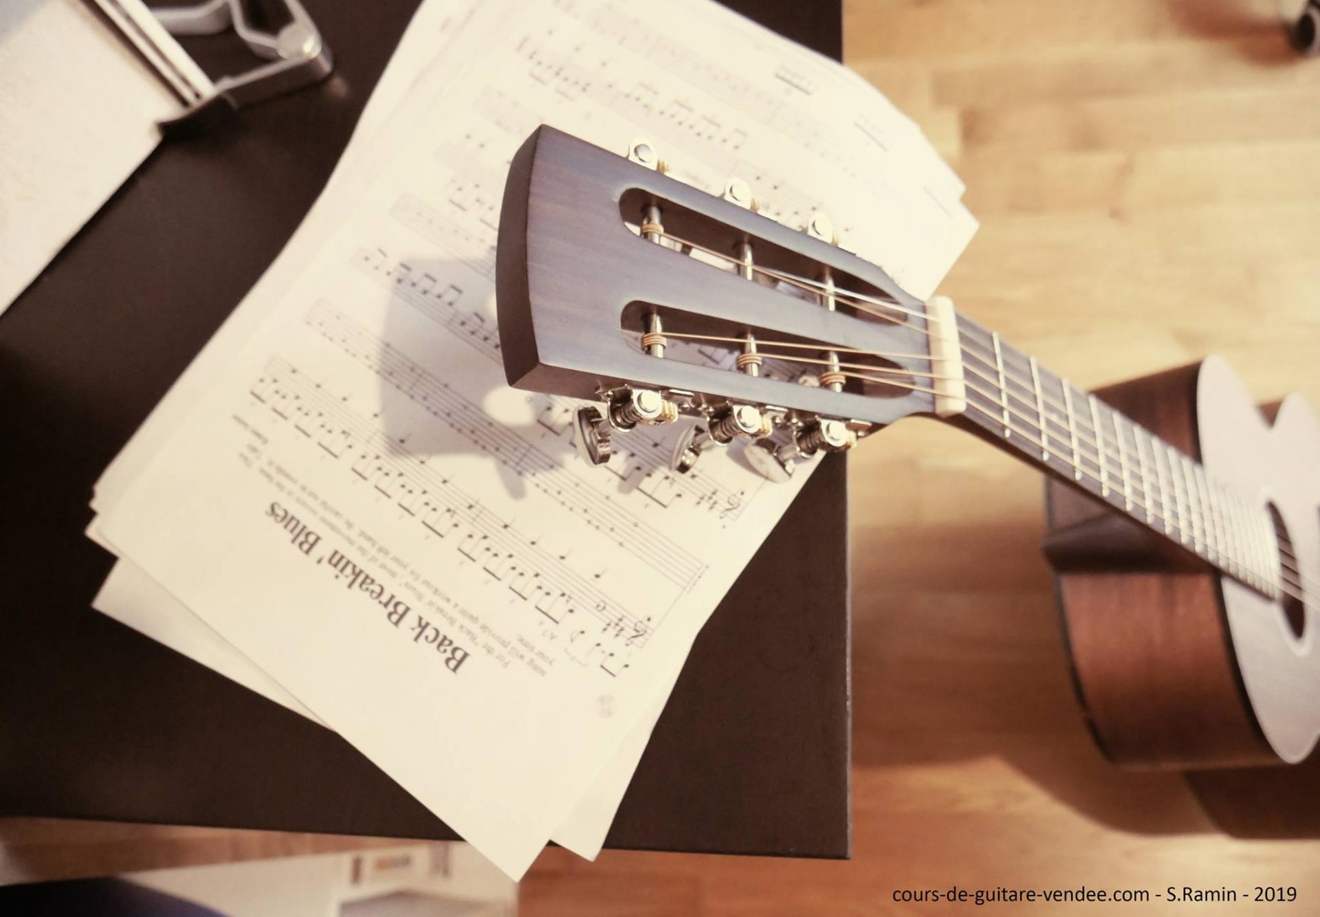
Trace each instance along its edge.
<path fill-rule="evenodd" d="M 577 442 L 692 418 L 684 472 L 739 441 L 784 479 L 907 417 L 1048 475 L 1045 554 L 1074 683 L 1111 760 L 1312 759 L 1320 738 L 1320 425 L 1229 365 L 1088 393 L 834 244 L 549 127 L 513 158 L 498 244 L 511 385 L 583 398 Z M 1313 759 L 1308 765 L 1315 773 Z M 1245 769 L 1245 771 L 1243 771 Z M 1320 823 L 1320 819 L 1317 819 Z"/>

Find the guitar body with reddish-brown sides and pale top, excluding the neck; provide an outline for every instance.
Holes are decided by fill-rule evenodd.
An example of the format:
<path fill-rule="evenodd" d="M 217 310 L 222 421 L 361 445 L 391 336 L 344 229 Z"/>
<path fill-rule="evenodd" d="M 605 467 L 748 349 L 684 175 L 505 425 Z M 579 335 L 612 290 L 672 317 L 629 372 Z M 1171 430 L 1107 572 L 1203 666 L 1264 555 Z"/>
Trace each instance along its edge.
<path fill-rule="evenodd" d="M 1302 577 L 1320 582 L 1320 425 L 1304 401 L 1290 397 L 1276 412 L 1262 412 L 1214 358 L 1098 395 L 1200 458 L 1217 480 L 1272 505 Z M 1047 497 L 1045 553 L 1056 571 L 1074 686 L 1109 759 L 1188 771 L 1237 768 L 1225 777 L 1238 773 L 1265 785 L 1255 768 L 1315 756 L 1316 608 L 1271 602 L 1193 566 L 1131 520 L 1059 482 L 1049 482 Z M 1315 773 L 1315 763 L 1299 768 L 1292 784 L 1309 786 L 1305 771 Z M 1224 809 L 1229 782 L 1208 776 L 1204 784 Z"/>

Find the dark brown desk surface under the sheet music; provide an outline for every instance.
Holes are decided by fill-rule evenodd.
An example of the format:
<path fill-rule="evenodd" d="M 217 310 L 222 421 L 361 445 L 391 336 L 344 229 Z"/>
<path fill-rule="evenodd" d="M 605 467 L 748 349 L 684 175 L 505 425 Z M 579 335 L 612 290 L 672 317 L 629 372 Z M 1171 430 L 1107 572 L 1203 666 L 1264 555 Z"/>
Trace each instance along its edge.
<path fill-rule="evenodd" d="M 165 142 L 0 317 L 0 814 L 454 837 L 333 732 L 88 604 L 92 483 L 302 219 L 416 3 L 306 5 L 331 80 Z M 730 5 L 841 53 L 837 7 Z M 846 856 L 847 607 L 834 458 L 698 637 L 609 846 Z"/>

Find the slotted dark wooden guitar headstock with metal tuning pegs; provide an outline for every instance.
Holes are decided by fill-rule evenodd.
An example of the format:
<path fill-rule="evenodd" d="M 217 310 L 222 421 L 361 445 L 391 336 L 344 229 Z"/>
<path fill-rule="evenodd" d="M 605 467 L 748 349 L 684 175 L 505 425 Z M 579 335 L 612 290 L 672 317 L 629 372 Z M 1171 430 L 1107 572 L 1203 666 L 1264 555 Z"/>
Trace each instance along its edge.
<path fill-rule="evenodd" d="M 692 416 L 676 468 L 737 438 L 772 478 L 903 417 L 961 413 L 952 303 L 834 243 L 824 215 L 783 226 L 738 179 L 723 197 L 676 181 L 644 141 L 624 157 L 537 128 L 500 214 L 508 381 L 601 402 L 578 412 L 589 460 L 611 429 Z"/>

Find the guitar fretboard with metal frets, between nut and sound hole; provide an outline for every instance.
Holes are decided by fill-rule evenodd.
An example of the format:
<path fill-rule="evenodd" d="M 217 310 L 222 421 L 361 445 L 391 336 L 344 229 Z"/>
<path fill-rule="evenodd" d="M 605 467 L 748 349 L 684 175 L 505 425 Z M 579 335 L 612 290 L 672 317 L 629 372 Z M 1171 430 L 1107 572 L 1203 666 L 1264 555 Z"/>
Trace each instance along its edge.
<path fill-rule="evenodd" d="M 961 313 L 965 420 L 1234 579 L 1279 596 L 1270 517 L 1104 401 Z"/>

